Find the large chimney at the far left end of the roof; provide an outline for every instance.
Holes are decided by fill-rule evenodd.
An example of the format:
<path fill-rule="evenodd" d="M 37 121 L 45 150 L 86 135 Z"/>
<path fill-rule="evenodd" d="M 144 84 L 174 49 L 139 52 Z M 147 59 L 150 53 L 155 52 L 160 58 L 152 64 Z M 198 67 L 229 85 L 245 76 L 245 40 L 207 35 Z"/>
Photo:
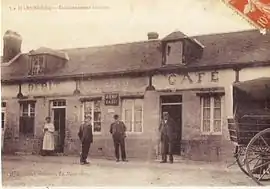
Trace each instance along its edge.
<path fill-rule="evenodd" d="M 22 37 L 14 31 L 7 30 L 3 40 L 3 62 L 8 62 L 21 52 Z"/>

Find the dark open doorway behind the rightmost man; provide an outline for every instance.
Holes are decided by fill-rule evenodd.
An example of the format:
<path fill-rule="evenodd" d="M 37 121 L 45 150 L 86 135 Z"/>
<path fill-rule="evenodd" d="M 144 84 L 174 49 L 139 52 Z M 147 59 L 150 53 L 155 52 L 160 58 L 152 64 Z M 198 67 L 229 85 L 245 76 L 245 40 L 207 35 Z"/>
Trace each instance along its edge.
<path fill-rule="evenodd" d="M 182 95 L 161 96 L 161 115 L 168 112 L 175 124 L 175 140 L 173 142 L 173 154 L 181 155 L 182 140 Z"/>

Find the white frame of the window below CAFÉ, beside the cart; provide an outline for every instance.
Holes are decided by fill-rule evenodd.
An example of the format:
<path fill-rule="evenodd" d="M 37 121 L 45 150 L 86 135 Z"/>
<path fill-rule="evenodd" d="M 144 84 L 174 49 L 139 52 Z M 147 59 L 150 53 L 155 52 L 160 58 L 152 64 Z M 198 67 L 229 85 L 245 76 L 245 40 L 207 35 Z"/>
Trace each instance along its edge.
<path fill-rule="evenodd" d="M 215 109 L 215 104 L 214 104 L 214 98 L 215 96 L 218 96 L 220 98 L 220 131 L 214 131 L 214 109 Z M 204 121 L 204 98 L 210 98 L 210 131 L 204 131 L 203 129 L 203 121 Z M 201 127 L 200 131 L 202 135 L 222 135 L 222 125 L 223 125 L 223 114 L 224 114 L 224 96 L 223 95 L 206 95 L 206 96 L 201 96 L 200 97 L 200 109 L 201 109 L 201 116 L 200 116 L 200 121 L 201 121 Z"/>

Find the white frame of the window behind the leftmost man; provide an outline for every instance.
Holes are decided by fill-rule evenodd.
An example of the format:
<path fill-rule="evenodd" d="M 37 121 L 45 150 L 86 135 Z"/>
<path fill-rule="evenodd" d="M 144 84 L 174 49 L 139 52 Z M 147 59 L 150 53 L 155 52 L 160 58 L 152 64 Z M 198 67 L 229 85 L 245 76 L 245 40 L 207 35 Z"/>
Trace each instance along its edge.
<path fill-rule="evenodd" d="M 100 129 L 100 131 L 94 131 L 94 123 L 95 123 L 95 121 L 94 121 L 94 113 L 95 113 L 95 111 L 94 111 L 94 107 L 95 107 L 95 102 L 96 101 L 100 101 L 100 114 L 101 114 L 101 119 L 100 119 L 100 126 L 101 126 L 101 129 Z M 85 115 L 85 103 L 86 102 L 90 102 L 91 103 L 91 108 L 92 108 L 92 112 L 91 112 L 91 125 L 92 125 L 92 132 L 93 132 L 93 134 L 94 135 L 101 135 L 102 134 L 102 110 L 101 110 L 101 102 L 102 102 L 102 99 L 93 99 L 93 100 L 85 100 L 85 101 L 83 101 L 82 102 L 82 123 L 84 123 L 84 115 Z M 96 121 L 97 122 L 97 121 Z"/>

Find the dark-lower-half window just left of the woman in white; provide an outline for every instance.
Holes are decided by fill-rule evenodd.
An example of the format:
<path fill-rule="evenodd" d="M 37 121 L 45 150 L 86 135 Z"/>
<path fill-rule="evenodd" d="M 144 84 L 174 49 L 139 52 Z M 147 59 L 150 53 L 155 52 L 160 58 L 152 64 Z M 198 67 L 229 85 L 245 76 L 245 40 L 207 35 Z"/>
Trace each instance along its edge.
<path fill-rule="evenodd" d="M 34 134 L 35 102 L 20 103 L 20 133 Z"/>

